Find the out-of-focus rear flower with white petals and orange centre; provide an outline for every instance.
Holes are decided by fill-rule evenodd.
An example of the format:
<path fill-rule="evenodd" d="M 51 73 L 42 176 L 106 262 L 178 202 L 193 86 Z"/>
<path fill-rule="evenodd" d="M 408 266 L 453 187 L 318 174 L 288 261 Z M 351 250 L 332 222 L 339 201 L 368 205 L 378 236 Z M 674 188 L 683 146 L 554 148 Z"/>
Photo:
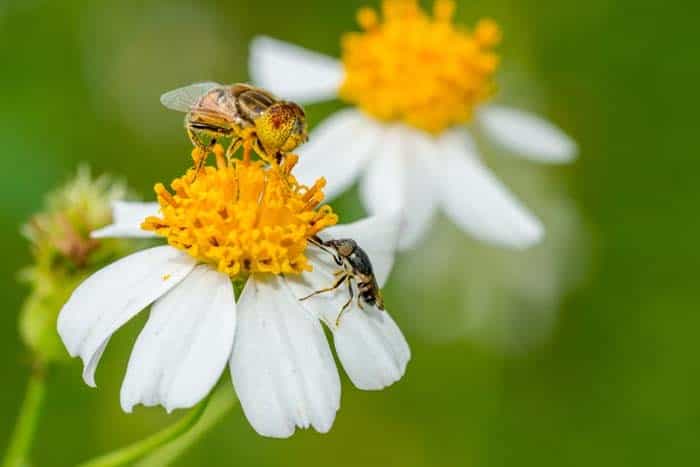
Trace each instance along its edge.
<path fill-rule="evenodd" d="M 382 20 L 361 9 L 363 31 L 343 37 L 341 61 L 258 37 L 251 76 L 298 102 L 339 97 L 353 105 L 314 131 L 297 176 L 326 175 L 331 198 L 359 178 L 371 214 L 403 214 L 401 248 L 422 238 L 438 208 L 477 239 L 526 248 L 543 226 L 481 162 L 465 124 L 539 162 L 569 162 L 576 144 L 540 117 L 483 104 L 494 92 L 500 31 L 482 20 L 468 33 L 452 24 L 454 8 L 435 0 L 430 17 L 416 0 L 384 0 Z"/>

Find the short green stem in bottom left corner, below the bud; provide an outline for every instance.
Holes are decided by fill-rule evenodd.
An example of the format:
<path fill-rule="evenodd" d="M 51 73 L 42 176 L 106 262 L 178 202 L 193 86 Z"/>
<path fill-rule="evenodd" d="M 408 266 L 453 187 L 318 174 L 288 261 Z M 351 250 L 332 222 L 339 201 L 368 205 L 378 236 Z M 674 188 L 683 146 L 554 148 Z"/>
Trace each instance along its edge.
<path fill-rule="evenodd" d="M 4 467 L 22 467 L 27 463 L 27 454 L 34 440 L 41 406 L 46 394 L 44 368 L 36 364 L 32 369 L 27 385 L 27 393 L 22 402 L 15 431 L 12 433 L 10 444 L 5 455 Z"/>

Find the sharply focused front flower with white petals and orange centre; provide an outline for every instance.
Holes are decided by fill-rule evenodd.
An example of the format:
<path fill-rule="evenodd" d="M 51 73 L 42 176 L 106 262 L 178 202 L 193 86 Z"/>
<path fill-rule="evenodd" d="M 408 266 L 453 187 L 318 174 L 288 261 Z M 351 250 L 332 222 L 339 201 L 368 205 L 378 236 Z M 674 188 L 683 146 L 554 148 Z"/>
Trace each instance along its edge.
<path fill-rule="evenodd" d="M 223 156 L 219 155 L 221 158 Z M 330 255 L 307 240 L 353 238 L 371 257 L 379 284 L 393 263 L 395 222 L 373 217 L 333 226 L 323 180 L 299 185 L 262 162 L 190 170 L 156 185 L 158 203 L 118 203 L 115 223 L 96 237 L 165 237 L 158 246 L 123 258 L 83 282 L 61 310 L 58 331 L 72 356 L 95 369 L 109 339 L 152 305 L 129 359 L 121 405 L 195 405 L 228 363 L 253 428 L 272 437 L 296 427 L 327 432 L 340 406 L 340 380 L 319 321 L 333 336 L 340 362 L 360 389 L 399 380 L 410 351 L 383 310 L 352 302 L 346 288 L 300 301 L 334 280 Z M 149 214 L 151 214 L 149 216 Z M 146 220 L 144 221 L 144 218 Z M 236 301 L 232 280 L 245 279 Z"/>

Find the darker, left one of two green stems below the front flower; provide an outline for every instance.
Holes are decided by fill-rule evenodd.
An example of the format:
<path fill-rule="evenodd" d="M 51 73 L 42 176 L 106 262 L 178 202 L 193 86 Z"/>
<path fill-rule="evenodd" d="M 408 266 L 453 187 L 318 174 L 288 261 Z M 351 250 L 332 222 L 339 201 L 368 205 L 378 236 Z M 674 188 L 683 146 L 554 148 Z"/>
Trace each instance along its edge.
<path fill-rule="evenodd" d="M 155 449 L 187 433 L 200 419 L 208 402 L 209 396 L 192 409 L 190 413 L 158 433 L 138 441 L 131 446 L 91 459 L 80 464 L 78 467 L 117 467 L 121 465 L 132 465 Z"/>

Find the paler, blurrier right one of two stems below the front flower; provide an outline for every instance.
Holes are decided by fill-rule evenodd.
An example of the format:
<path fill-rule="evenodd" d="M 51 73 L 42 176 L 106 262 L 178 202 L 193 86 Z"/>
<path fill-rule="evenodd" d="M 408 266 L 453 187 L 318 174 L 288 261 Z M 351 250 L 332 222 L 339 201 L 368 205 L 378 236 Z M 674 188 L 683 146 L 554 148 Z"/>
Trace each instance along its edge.
<path fill-rule="evenodd" d="M 166 467 L 172 464 L 216 426 L 236 406 L 237 402 L 238 399 L 231 385 L 221 385 L 214 391 L 211 403 L 202 418 L 190 431 L 149 454 L 135 467 Z"/>

